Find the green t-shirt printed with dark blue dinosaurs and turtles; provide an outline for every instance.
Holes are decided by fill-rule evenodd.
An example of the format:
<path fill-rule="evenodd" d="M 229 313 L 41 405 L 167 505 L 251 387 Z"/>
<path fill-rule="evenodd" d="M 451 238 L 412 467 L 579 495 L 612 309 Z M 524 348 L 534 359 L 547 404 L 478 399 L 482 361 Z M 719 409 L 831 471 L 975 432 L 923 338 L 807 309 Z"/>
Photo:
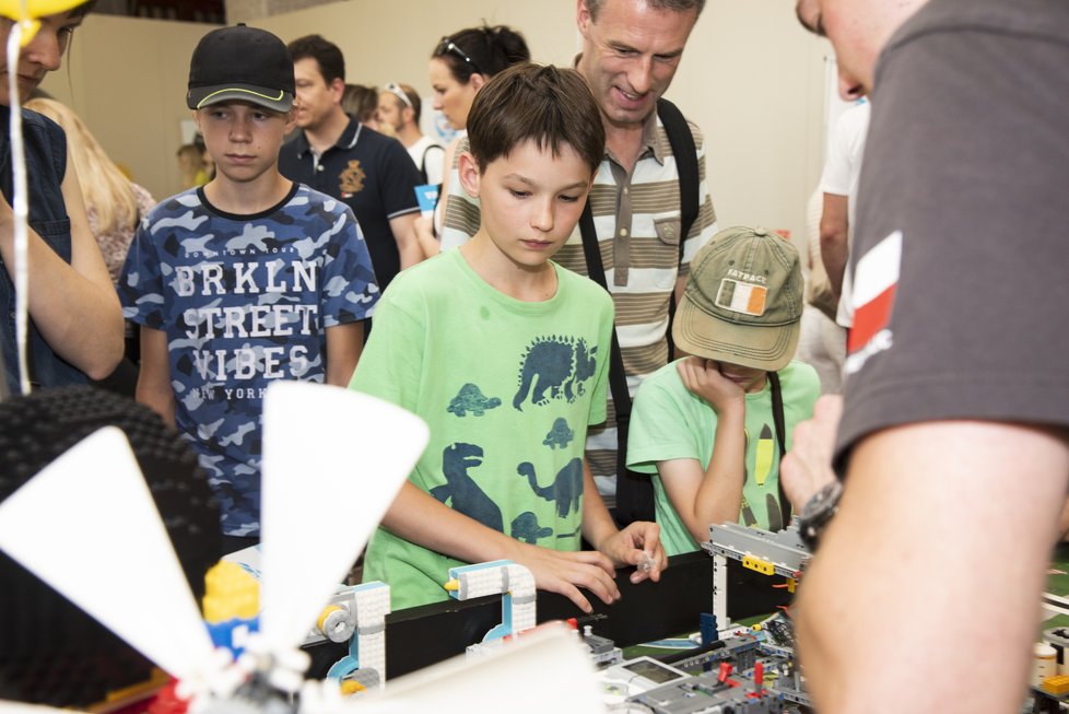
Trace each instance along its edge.
<path fill-rule="evenodd" d="M 584 442 L 606 419 L 612 301 L 551 265 L 556 294 L 537 303 L 491 288 L 459 250 L 402 271 L 376 306 L 350 388 L 427 422 L 416 487 L 514 538 L 578 550 Z M 459 564 L 379 528 L 364 578 L 387 583 L 401 609 L 446 599 Z"/>

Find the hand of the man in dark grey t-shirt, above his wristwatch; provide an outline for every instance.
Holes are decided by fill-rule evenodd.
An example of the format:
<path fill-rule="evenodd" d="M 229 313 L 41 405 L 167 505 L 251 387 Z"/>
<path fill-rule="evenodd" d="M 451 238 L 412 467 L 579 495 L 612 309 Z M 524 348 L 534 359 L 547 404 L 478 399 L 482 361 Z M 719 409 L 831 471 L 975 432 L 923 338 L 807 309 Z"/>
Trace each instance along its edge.
<path fill-rule="evenodd" d="M 813 418 L 795 426 L 790 450 L 779 467 L 795 513 L 801 513 L 814 493 L 835 480 L 832 450 L 842 415 L 843 398 L 825 395 L 813 406 Z"/>

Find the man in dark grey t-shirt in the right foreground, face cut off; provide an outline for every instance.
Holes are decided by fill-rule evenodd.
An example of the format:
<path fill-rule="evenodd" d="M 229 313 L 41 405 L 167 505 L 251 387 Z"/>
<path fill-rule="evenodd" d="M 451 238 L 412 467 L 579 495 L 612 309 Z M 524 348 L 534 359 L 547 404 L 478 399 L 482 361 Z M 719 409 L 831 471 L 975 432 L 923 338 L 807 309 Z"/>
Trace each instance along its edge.
<path fill-rule="evenodd" d="M 808 686 L 822 714 L 1019 711 L 1069 484 L 1069 3 L 797 14 L 877 97 L 845 401 L 782 471 L 811 538 L 845 475 L 799 596 Z"/>

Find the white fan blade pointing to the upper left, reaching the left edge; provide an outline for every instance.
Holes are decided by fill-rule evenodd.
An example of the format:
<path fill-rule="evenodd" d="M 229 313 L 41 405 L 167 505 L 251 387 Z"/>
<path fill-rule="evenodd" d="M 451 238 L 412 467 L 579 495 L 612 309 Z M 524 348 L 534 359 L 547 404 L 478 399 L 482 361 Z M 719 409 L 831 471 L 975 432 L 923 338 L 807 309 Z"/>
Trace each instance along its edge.
<path fill-rule="evenodd" d="M 171 675 L 209 662 L 211 639 L 121 430 L 94 432 L 0 504 L 0 548 Z"/>

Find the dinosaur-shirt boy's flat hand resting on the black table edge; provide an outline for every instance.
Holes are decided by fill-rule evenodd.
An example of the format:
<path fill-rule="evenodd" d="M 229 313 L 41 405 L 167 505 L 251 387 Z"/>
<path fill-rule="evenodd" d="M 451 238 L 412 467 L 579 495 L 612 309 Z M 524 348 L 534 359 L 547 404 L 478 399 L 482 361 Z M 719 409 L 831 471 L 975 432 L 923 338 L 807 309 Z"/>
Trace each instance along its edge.
<path fill-rule="evenodd" d="M 584 612 L 591 612 L 594 607 L 579 592 L 579 587 L 590 590 L 606 605 L 612 605 L 620 599 L 620 589 L 613 580 L 616 572 L 612 561 L 598 551 L 568 552 L 519 545 L 522 548 L 513 560 L 531 571 L 534 585 L 540 590 L 563 595 Z"/>

